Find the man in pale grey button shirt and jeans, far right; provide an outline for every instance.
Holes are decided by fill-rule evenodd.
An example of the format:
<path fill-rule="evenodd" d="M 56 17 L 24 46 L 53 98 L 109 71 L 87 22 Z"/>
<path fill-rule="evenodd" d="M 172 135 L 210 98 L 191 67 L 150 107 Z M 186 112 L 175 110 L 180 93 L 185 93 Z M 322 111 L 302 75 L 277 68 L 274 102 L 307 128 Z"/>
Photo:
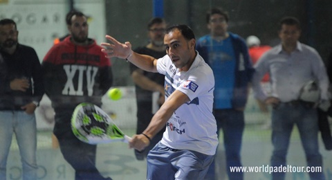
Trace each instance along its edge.
<path fill-rule="evenodd" d="M 304 84 L 317 80 L 320 100 L 328 100 L 329 79 L 322 58 L 314 48 L 298 42 L 301 35 L 299 21 L 295 17 L 284 17 L 280 21 L 281 44 L 265 53 L 255 64 L 252 78 L 254 95 L 268 105 L 272 111 L 272 166 L 286 165 L 286 154 L 293 126 L 297 125 L 308 166 L 322 167 L 322 155 L 318 147 L 317 111 L 313 105 L 299 100 Z M 261 89 L 260 80 L 270 73 L 272 93 L 267 96 Z M 324 169 L 324 168 L 322 168 Z M 323 172 L 309 172 L 311 179 L 324 179 Z M 284 172 L 274 172 L 273 179 L 284 179 Z"/>

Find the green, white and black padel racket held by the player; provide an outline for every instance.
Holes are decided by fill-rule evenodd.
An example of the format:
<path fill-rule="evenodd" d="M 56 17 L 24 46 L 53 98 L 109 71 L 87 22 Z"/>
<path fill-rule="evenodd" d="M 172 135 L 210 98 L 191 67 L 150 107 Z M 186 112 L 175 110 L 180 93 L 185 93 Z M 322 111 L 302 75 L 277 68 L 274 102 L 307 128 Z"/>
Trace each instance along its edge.
<path fill-rule="evenodd" d="M 100 107 L 83 102 L 77 105 L 71 118 L 71 129 L 80 141 L 89 144 L 111 143 L 131 139 Z"/>

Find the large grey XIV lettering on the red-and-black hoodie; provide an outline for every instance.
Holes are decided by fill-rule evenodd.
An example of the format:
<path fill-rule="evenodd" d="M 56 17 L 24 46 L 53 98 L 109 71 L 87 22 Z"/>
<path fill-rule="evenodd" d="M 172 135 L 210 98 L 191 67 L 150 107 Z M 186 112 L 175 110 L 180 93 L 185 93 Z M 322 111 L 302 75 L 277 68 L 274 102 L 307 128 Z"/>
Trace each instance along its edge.
<path fill-rule="evenodd" d="M 86 89 L 88 96 L 93 95 L 93 85 L 95 84 L 95 75 L 98 72 L 98 67 L 95 66 L 82 66 L 82 65 L 64 65 L 64 71 L 67 75 L 67 82 L 62 89 L 63 95 L 83 96 L 83 80 L 86 80 Z M 75 74 L 77 76 L 77 87 L 74 87 L 73 79 Z"/>

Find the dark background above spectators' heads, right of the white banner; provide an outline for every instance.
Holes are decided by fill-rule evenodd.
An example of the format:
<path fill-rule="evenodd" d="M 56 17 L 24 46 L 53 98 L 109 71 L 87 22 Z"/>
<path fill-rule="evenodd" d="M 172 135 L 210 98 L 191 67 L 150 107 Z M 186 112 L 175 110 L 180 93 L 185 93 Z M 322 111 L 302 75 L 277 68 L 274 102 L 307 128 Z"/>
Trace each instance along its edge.
<path fill-rule="evenodd" d="M 152 0 L 105 0 L 107 34 L 133 48 L 147 44 L 147 21 L 153 17 Z M 297 17 L 302 23 L 300 42 L 313 46 L 324 62 L 332 50 L 332 1 L 328 0 L 164 0 L 164 17 L 169 24 L 187 24 L 196 38 L 209 33 L 205 13 L 219 6 L 230 16 L 228 30 L 244 39 L 256 35 L 261 44 L 275 46 L 279 19 Z M 112 60 L 115 86 L 132 85 L 129 64 Z"/>

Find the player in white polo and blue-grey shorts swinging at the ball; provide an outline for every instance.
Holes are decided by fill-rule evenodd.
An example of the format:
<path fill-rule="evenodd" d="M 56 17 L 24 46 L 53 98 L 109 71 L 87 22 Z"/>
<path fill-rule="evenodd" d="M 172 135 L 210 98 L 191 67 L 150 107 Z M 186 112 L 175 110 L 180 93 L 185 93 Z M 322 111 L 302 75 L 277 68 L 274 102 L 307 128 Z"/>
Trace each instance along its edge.
<path fill-rule="evenodd" d="M 212 114 L 214 76 L 195 51 L 195 36 L 186 25 L 167 28 L 166 53 L 158 60 L 131 50 L 107 35 L 107 57 L 127 59 L 145 71 L 165 75 L 165 103 L 129 147 L 144 150 L 166 125 L 162 140 L 147 155 L 147 179 L 204 179 L 216 152 L 216 120 Z"/>

